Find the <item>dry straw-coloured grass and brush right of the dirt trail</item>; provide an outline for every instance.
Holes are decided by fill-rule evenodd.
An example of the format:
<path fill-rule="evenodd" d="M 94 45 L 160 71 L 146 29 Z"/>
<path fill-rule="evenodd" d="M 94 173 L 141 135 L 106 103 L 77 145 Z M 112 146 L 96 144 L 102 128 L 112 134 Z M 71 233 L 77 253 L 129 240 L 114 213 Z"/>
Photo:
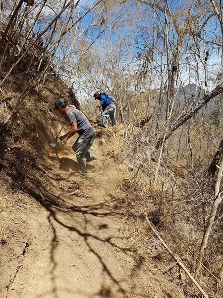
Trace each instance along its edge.
<path fill-rule="evenodd" d="M 212 203 L 213 181 L 202 171 L 191 172 L 164 153 L 158 183 L 154 185 L 152 181 L 158 158 L 156 154 L 153 154 L 153 158 L 142 154 L 149 150 L 149 145 L 146 148 L 145 143 L 135 142 L 131 138 L 127 141 L 122 139 L 119 146 L 115 146 L 115 139 L 111 141 L 110 148 L 116 150 L 116 160 L 121 161 L 122 168 L 126 170 L 125 179 L 116 190 L 117 199 L 113 208 L 125 215 L 122 232 L 128 238 L 129 246 L 137 248 L 140 256 L 151 265 L 148 268 L 150 271 L 157 270 L 174 280 L 185 297 L 200 297 L 197 289 L 183 272 L 178 271 L 177 266 L 169 269 L 174 261 L 148 230 L 144 209 L 167 245 L 182 258 L 193 274 L 204 229 L 204 215 L 207 220 Z M 204 266 L 212 274 L 217 274 L 221 266 L 218 265 L 223 255 L 221 226 L 221 223 L 216 223 L 204 261 Z M 204 266 L 196 278 L 212 297 L 214 278 Z M 222 297 L 222 292 L 213 297 Z"/>

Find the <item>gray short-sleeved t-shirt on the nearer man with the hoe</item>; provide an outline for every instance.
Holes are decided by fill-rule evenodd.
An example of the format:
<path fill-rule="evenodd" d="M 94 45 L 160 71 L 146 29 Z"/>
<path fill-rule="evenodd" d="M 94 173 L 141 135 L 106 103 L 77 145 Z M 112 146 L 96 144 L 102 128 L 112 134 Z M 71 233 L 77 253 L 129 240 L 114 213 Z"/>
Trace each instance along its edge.
<path fill-rule="evenodd" d="M 66 116 L 70 124 L 72 124 L 73 122 L 77 122 L 77 133 L 80 136 L 89 138 L 93 134 L 95 134 L 93 127 L 81 111 L 69 107 L 67 109 Z"/>

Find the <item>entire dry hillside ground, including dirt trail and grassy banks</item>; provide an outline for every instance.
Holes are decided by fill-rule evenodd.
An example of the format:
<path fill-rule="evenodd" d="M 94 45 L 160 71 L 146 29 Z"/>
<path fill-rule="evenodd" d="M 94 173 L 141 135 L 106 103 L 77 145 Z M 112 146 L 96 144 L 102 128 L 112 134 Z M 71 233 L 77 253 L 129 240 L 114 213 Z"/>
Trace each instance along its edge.
<path fill-rule="evenodd" d="M 20 85 L 16 79 L 5 85 L 1 111 L 11 110 Z M 193 189 L 188 171 L 165 156 L 152 186 L 157 162 L 150 152 L 142 155 L 133 137 L 123 138 L 124 127 L 107 130 L 91 121 L 98 159 L 80 180 L 75 137 L 50 147 L 62 126 L 69 129 L 54 111 L 60 97 L 76 104 L 51 76 L 0 136 L 0 298 L 197 297 L 144 216 L 146 208 L 191 268 L 191 247 L 201 235 L 197 201 L 193 207 L 181 192 L 190 183 Z"/>

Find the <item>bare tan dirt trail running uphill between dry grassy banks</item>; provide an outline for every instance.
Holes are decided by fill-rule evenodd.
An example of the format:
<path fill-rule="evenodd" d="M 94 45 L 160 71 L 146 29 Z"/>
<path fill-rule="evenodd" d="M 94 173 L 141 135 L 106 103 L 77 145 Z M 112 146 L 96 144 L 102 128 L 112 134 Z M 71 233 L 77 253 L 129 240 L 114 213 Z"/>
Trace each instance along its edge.
<path fill-rule="evenodd" d="M 70 144 L 49 153 L 45 179 L 55 202 L 35 202 L 23 214 L 30 240 L 2 297 L 153 297 L 144 293 L 140 262 L 111 208 L 121 173 L 103 146 L 95 141 L 98 160 L 88 165 L 86 181 L 78 177 Z"/>

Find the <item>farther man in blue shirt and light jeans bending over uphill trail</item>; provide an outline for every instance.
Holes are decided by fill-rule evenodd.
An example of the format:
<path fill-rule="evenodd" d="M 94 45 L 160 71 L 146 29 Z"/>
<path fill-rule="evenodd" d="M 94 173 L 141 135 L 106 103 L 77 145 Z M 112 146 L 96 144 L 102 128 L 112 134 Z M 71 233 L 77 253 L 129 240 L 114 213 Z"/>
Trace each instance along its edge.
<path fill-rule="evenodd" d="M 117 122 L 115 119 L 115 99 L 112 96 L 108 96 L 106 93 L 96 92 L 94 94 L 95 99 L 100 100 L 100 103 L 97 104 L 97 107 L 102 107 L 102 121 L 105 128 L 108 128 L 108 118 L 111 118 L 111 125 L 114 126 Z"/>

